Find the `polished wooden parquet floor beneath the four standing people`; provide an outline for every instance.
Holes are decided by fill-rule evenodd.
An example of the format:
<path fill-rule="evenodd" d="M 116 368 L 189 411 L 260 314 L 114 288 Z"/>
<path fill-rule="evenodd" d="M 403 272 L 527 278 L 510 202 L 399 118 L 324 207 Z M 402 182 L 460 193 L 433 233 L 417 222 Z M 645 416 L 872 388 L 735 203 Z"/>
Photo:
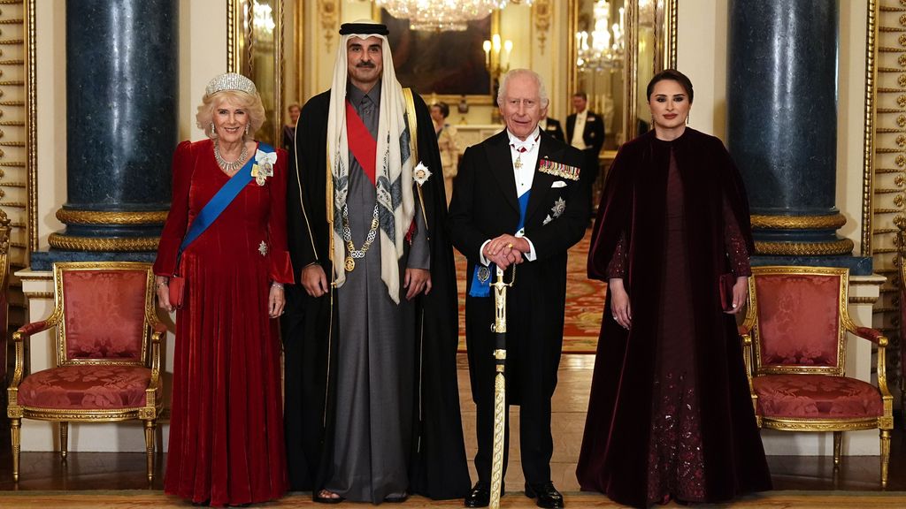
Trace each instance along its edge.
<path fill-rule="evenodd" d="M 575 462 L 582 444 L 593 363 L 593 355 L 564 355 L 553 401 L 553 480 L 566 495 L 568 506 L 573 508 L 619 507 L 603 495 L 580 494 L 575 481 Z M 458 364 L 467 456 L 471 458 L 476 449 L 475 408 L 470 397 L 464 355 L 460 355 Z M 513 408 L 511 418 L 514 424 L 518 422 L 516 412 L 518 408 Z M 510 490 L 516 490 L 523 484 L 517 426 L 513 428 L 511 439 L 513 444 L 506 485 Z M 887 493 L 880 490 L 876 456 L 844 457 L 842 466 L 836 472 L 830 457 L 769 456 L 768 463 L 777 491 L 765 496 L 748 497 L 731 506 L 906 507 L 903 493 L 893 493 L 906 492 L 906 446 L 903 440 L 904 433 L 900 426 L 893 433 Z M 26 452 L 22 455 L 20 482 L 14 485 L 8 423 L 4 418 L 0 420 L 0 507 L 188 507 L 188 504 L 159 491 L 162 488 L 164 456 L 158 457 L 156 476 L 150 486 L 144 475 L 144 458 L 143 453 L 71 452 L 68 461 L 63 464 L 53 453 Z M 472 478 L 475 478 L 474 469 Z M 149 487 L 154 491 L 148 491 Z M 70 493 L 50 493 L 60 491 Z M 308 495 L 292 494 L 281 501 L 261 506 L 296 507 L 308 504 L 311 504 Z M 461 501 L 435 503 L 413 497 L 405 506 L 458 507 Z M 502 506 L 533 507 L 534 504 L 521 493 L 511 491 L 504 497 Z"/>

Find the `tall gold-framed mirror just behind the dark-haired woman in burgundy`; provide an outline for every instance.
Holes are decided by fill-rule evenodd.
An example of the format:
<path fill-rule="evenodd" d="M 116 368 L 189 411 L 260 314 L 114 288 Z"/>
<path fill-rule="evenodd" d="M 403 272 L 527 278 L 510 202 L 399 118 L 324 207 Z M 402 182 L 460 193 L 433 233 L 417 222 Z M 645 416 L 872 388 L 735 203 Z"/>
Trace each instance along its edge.
<path fill-rule="evenodd" d="M 606 153 L 651 127 L 645 87 L 676 67 L 677 0 L 570 0 L 569 11 L 567 89 L 604 119 Z"/>

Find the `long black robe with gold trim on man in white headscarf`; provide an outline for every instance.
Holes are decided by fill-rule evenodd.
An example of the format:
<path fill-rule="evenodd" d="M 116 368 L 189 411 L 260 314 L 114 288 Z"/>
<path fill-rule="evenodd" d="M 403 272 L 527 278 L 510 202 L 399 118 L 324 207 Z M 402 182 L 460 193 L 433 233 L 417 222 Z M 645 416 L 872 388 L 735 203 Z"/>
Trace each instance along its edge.
<path fill-rule="evenodd" d="M 385 88 L 383 93 L 390 93 Z M 416 316 L 416 379 L 413 406 L 413 450 L 410 493 L 433 499 L 465 496 L 470 487 L 462 420 L 459 414 L 456 352 L 458 296 L 456 268 L 444 221 L 447 201 L 434 127 L 428 107 L 413 93 L 418 118 L 419 159 L 432 175 L 422 186 L 428 216 L 431 255 L 431 292 L 419 295 Z M 328 282 L 329 253 L 326 185 L 327 116 L 330 91 L 306 102 L 296 128 L 296 146 L 290 153 L 287 183 L 287 235 L 295 281 L 305 266 L 323 266 Z M 418 161 L 416 161 L 418 162 Z M 413 193 L 415 191 L 413 190 Z M 420 210 L 416 210 L 420 214 Z M 400 287 L 400 297 L 405 298 Z M 333 292 L 332 292 L 333 293 Z M 339 316 L 335 295 L 314 298 L 301 284 L 286 286 L 284 313 L 284 421 L 286 461 L 290 487 L 317 493 L 330 480 L 333 467 L 334 400 L 337 323 L 354 320 Z M 333 333 L 332 333 L 333 329 Z M 420 348 L 420 351 L 419 351 Z"/>

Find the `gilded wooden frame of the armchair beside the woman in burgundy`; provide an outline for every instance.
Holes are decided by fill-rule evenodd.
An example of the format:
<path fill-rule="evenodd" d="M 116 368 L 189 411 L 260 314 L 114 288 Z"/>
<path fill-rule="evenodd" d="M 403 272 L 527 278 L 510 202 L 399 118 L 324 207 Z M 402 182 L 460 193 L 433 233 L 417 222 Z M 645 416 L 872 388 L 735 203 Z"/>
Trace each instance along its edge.
<path fill-rule="evenodd" d="M 762 366 L 761 341 L 758 339 L 758 300 L 756 293 L 756 280 L 758 275 L 777 274 L 803 274 L 835 276 L 840 280 L 840 291 L 837 296 L 839 303 L 838 316 L 840 326 L 837 337 L 837 363 L 834 367 L 800 367 L 800 366 Z M 752 277 L 748 278 L 748 305 L 746 318 L 739 327 L 743 343 L 743 357 L 746 362 L 746 375 L 749 393 L 752 398 L 752 407 L 755 409 L 758 427 L 777 429 L 781 431 L 812 431 L 834 432 L 834 467 L 840 465 L 841 447 L 844 431 L 858 431 L 863 429 L 879 429 L 881 435 L 881 484 L 887 485 L 888 463 L 891 451 L 891 430 L 893 428 L 893 397 L 887 387 L 886 347 L 888 340 L 880 333 L 871 329 L 857 326 L 850 318 L 849 303 L 849 269 L 837 267 L 811 267 L 811 266 L 761 266 L 752 267 Z M 753 379 L 758 376 L 772 374 L 804 374 L 804 375 L 831 375 L 845 376 L 846 333 L 872 341 L 877 346 L 876 370 L 878 374 L 877 389 L 881 393 L 883 412 L 876 418 L 771 418 L 758 413 L 758 396 L 755 391 Z"/>

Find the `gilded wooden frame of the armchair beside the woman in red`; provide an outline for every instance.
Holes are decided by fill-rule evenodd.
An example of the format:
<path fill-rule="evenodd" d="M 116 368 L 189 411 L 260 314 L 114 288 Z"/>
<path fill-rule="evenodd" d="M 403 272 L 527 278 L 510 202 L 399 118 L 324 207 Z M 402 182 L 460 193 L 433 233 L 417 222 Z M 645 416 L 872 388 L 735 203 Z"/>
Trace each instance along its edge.
<path fill-rule="evenodd" d="M 65 349 L 63 273 L 71 271 L 92 270 L 143 270 L 146 272 L 144 322 L 142 351 L 140 360 L 68 360 Z M 42 322 L 24 325 L 13 333 L 15 345 L 15 367 L 13 380 L 6 389 L 6 415 L 10 418 L 13 441 L 13 480 L 19 481 L 19 459 L 21 452 L 21 420 L 53 421 L 59 424 L 60 456 L 63 460 L 68 454 L 69 422 L 118 422 L 140 419 L 145 423 L 145 448 L 147 454 L 147 474 L 149 482 L 154 470 L 154 430 L 157 419 L 163 409 L 163 387 L 160 379 L 160 342 L 167 333 L 167 327 L 160 322 L 154 307 L 154 274 L 150 264 L 138 262 L 72 262 L 53 264 L 54 307 L 50 316 Z M 25 341 L 34 334 L 55 329 L 53 334 L 56 366 L 66 365 L 136 365 L 151 370 L 148 388 L 145 389 L 145 405 L 134 408 L 111 408 L 103 410 L 78 410 L 58 408 L 34 408 L 19 404 L 19 386 L 25 377 Z M 149 345 L 150 343 L 150 345 Z"/>

